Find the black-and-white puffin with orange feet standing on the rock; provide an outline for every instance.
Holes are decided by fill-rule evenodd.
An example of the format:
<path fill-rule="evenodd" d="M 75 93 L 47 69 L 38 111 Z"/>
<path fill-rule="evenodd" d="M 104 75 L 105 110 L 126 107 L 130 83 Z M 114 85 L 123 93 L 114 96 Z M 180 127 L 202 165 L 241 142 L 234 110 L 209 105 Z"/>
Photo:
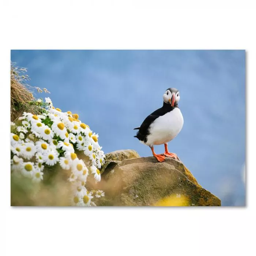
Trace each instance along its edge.
<path fill-rule="evenodd" d="M 178 107 L 179 100 L 180 92 L 176 88 L 167 89 L 163 94 L 162 108 L 147 116 L 140 127 L 134 128 L 139 130 L 134 137 L 151 148 L 158 162 L 165 161 L 165 157 L 178 159 L 176 154 L 168 151 L 167 143 L 178 135 L 183 126 L 183 116 Z M 161 144 L 165 144 L 165 153 L 155 154 L 154 145 Z"/>

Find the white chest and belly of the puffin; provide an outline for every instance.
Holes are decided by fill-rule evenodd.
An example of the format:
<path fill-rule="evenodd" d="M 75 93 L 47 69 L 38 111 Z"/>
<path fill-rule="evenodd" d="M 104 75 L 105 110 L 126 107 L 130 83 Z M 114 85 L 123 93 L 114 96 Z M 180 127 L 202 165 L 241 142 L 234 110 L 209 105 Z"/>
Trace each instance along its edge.
<path fill-rule="evenodd" d="M 149 127 L 146 144 L 148 146 L 167 143 L 178 135 L 183 126 L 183 116 L 179 108 L 159 116 Z"/>

